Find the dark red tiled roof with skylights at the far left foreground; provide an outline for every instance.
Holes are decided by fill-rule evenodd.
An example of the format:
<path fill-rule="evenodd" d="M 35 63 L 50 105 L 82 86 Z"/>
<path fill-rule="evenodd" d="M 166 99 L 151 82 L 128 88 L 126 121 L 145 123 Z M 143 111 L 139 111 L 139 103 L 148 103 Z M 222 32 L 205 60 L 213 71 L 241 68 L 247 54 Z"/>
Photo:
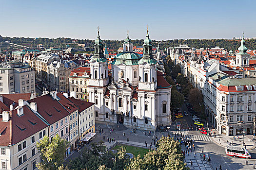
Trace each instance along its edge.
<path fill-rule="evenodd" d="M 8 122 L 0 118 L 0 129 L 3 130 L 0 136 L 0 146 L 17 144 L 48 126 L 28 106 L 23 106 L 23 109 L 24 114 L 20 117 L 17 115 L 17 109 L 11 111 Z M 31 123 L 29 119 L 33 119 L 36 123 Z"/>

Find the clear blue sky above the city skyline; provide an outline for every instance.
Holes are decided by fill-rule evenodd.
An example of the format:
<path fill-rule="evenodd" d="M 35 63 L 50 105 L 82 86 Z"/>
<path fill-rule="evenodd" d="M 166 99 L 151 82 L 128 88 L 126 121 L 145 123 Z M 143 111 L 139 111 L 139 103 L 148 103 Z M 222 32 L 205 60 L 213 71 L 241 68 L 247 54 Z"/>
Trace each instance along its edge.
<path fill-rule="evenodd" d="M 256 37 L 256 0 L 0 0 L 0 35 L 144 39 Z"/>

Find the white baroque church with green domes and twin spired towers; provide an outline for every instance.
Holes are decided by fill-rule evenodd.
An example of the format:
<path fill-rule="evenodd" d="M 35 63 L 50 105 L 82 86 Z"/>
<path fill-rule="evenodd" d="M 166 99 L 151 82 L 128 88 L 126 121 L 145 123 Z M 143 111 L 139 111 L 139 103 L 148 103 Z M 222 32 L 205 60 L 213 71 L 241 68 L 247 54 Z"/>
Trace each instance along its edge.
<path fill-rule="evenodd" d="M 89 101 L 95 103 L 95 120 L 141 130 L 170 125 L 172 86 L 157 68 L 148 30 L 142 57 L 133 52 L 128 34 L 123 51 L 112 63 L 104 57 L 99 31 L 94 46 L 95 53 L 89 61 L 88 88 Z M 111 70 L 108 70 L 108 64 L 111 64 Z"/>

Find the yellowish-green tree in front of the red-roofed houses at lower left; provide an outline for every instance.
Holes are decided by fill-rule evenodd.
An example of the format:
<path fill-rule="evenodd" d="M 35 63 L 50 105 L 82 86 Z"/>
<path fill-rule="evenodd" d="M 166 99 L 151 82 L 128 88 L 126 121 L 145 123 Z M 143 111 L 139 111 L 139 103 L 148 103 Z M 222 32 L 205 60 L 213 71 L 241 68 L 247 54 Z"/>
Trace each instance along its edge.
<path fill-rule="evenodd" d="M 53 137 L 52 141 L 48 136 L 37 142 L 37 149 L 42 162 L 37 164 L 39 170 L 58 170 L 64 161 L 64 155 L 69 143 L 61 139 L 59 135 Z"/>

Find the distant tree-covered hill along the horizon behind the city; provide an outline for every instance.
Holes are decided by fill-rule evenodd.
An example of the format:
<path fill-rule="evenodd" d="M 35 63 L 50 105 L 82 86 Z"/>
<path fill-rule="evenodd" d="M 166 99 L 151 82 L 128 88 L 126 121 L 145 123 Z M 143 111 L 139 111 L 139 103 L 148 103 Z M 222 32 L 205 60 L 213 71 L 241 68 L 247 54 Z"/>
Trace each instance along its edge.
<path fill-rule="evenodd" d="M 37 47 L 38 44 L 42 44 L 45 48 L 49 47 L 62 47 L 65 48 L 65 43 L 72 43 L 71 38 L 24 38 L 24 37 L 2 37 L 0 36 L 1 41 L 9 41 L 15 44 L 26 44 L 30 47 Z M 248 49 L 256 50 L 256 39 L 245 40 L 245 45 Z M 122 42 L 119 40 L 104 40 L 103 43 L 107 45 L 109 49 L 118 50 L 119 47 L 122 47 Z M 94 41 L 88 39 L 78 39 L 76 43 L 85 43 L 86 47 L 93 48 Z M 143 39 L 140 40 L 132 40 L 134 46 L 142 46 Z M 152 44 L 154 47 L 158 46 L 158 41 L 152 40 Z M 234 51 L 240 46 L 239 40 L 228 40 L 228 39 L 174 39 L 174 40 L 162 40 L 160 41 L 159 47 L 160 49 L 164 49 L 165 47 L 175 47 L 179 46 L 179 44 L 187 44 L 191 48 L 212 48 L 219 46 L 220 48 L 227 49 L 230 48 Z M 77 48 L 77 45 L 70 45 L 70 47 Z"/>

